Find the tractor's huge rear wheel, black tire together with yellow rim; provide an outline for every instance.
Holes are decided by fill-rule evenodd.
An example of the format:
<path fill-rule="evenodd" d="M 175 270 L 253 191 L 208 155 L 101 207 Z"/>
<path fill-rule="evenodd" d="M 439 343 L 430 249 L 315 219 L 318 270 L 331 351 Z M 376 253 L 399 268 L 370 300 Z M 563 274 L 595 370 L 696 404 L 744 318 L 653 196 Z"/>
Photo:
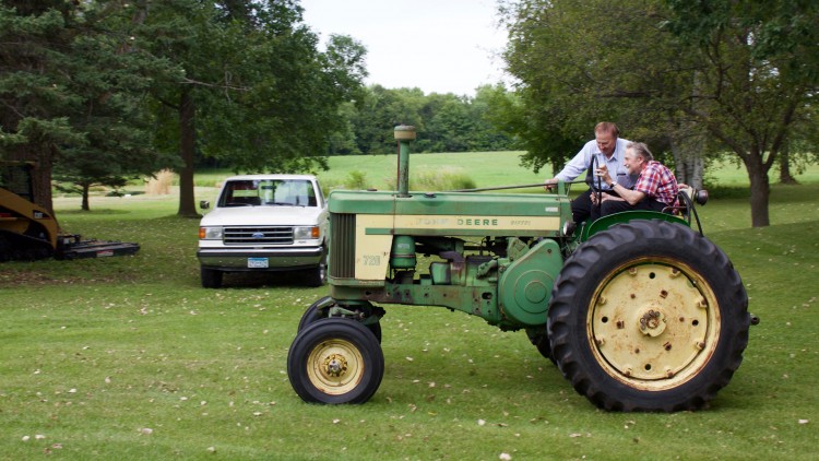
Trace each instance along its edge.
<path fill-rule="evenodd" d="M 632 221 L 566 261 L 548 334 L 560 371 L 597 406 L 696 410 L 739 367 L 747 308 L 739 275 L 713 243 L 680 224 Z"/>

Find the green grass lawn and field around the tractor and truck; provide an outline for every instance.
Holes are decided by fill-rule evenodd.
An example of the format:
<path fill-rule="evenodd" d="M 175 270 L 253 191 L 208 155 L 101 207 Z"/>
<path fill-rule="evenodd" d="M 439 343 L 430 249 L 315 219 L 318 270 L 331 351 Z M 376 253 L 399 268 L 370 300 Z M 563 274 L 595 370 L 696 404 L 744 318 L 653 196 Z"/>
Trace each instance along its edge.
<path fill-rule="evenodd" d="M 444 157 L 414 156 L 413 172 L 454 165 L 478 187 L 545 177 L 515 170 L 515 156 Z M 328 175 L 375 179 L 394 166 L 353 158 Z M 142 249 L 0 264 L 0 459 L 816 459 L 819 168 L 798 179 L 774 187 L 767 228 L 748 227 L 743 198 L 699 209 L 762 322 L 711 407 L 675 414 L 601 412 L 524 333 L 404 306 L 387 306 L 384 379 L 370 402 L 305 404 L 285 359 L 325 287 L 228 276 L 228 288 L 203 289 L 198 222 L 174 216 L 175 194 L 95 197 L 90 213 L 60 198 L 67 230 Z"/>

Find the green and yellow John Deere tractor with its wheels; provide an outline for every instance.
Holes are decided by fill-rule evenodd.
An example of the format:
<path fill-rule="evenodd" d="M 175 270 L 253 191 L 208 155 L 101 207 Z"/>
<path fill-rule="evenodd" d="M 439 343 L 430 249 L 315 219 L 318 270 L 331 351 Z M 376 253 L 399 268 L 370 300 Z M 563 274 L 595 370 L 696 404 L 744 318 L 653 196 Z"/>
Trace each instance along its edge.
<path fill-rule="evenodd" d="M 523 330 L 605 410 L 696 410 L 728 383 L 757 319 L 728 258 L 691 228 L 688 194 L 673 213 L 618 213 L 573 229 L 566 184 L 553 194 L 410 192 L 415 129 L 399 126 L 395 138 L 397 191 L 331 194 L 330 296 L 304 314 L 287 356 L 304 401 L 375 394 L 381 304 L 442 306 Z"/>

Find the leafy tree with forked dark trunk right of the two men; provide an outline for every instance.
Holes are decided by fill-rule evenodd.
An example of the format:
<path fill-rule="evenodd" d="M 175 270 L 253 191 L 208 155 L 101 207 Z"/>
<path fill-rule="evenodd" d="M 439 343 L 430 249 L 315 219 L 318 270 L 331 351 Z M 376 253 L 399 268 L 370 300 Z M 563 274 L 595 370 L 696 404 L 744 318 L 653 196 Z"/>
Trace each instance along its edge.
<path fill-rule="evenodd" d="M 768 173 L 819 86 L 819 4 L 812 1 L 668 0 L 664 24 L 692 49 L 697 106 L 685 114 L 745 165 L 751 224 L 770 224 Z"/>

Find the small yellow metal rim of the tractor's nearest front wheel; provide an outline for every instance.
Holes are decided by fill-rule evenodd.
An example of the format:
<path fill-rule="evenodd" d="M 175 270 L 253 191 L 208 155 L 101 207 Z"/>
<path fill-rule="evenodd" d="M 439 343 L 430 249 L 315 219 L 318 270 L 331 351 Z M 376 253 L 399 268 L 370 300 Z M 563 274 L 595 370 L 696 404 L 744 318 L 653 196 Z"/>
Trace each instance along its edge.
<path fill-rule="evenodd" d="M 330 395 L 342 395 L 352 391 L 364 376 L 361 353 L 348 341 L 324 341 L 313 347 L 307 359 L 310 382 Z"/>

